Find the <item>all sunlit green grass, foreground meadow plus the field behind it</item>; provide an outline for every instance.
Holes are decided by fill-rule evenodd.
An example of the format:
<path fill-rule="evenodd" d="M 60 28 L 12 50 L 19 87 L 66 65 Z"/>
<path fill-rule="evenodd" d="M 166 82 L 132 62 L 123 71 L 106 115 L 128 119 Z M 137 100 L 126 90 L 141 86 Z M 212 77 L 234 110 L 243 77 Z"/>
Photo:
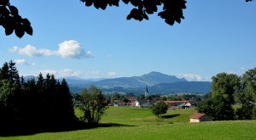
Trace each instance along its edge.
<path fill-rule="evenodd" d="M 76 111 L 79 115 L 79 111 Z M 102 126 L 73 132 L 44 132 L 30 136 L 0 137 L 1 139 L 255 139 L 256 120 L 189 123 L 195 109 L 169 111 L 164 119 L 150 109 L 111 107 Z"/>

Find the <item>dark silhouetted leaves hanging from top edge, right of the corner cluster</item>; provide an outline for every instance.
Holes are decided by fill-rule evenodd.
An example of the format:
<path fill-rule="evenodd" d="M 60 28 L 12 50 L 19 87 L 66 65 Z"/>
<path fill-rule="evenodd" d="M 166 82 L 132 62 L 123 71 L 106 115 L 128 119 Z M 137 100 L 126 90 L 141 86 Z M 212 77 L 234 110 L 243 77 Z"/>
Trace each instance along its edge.
<path fill-rule="evenodd" d="M 108 6 L 119 7 L 119 0 L 81 0 L 85 6 L 94 6 L 95 8 L 102 8 L 105 10 Z M 186 0 L 122 0 L 123 3 L 129 4 L 135 8 L 131 9 L 130 14 L 127 15 L 127 20 L 148 20 L 148 14 L 154 14 L 158 8 L 162 8 L 158 13 L 160 18 L 166 21 L 168 25 L 174 25 L 175 22 L 180 23 L 183 17 L 183 9 L 186 8 Z M 249 2 L 252 0 L 246 0 Z"/>

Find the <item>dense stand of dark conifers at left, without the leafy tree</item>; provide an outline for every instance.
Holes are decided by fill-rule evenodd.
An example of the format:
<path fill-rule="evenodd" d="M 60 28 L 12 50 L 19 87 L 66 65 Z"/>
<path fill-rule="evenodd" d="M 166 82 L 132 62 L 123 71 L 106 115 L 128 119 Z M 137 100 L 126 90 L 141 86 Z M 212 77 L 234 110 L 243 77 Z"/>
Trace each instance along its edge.
<path fill-rule="evenodd" d="M 72 95 L 67 81 L 40 73 L 35 79 L 19 76 L 15 63 L 0 68 L 0 124 L 61 124 L 75 120 Z"/>

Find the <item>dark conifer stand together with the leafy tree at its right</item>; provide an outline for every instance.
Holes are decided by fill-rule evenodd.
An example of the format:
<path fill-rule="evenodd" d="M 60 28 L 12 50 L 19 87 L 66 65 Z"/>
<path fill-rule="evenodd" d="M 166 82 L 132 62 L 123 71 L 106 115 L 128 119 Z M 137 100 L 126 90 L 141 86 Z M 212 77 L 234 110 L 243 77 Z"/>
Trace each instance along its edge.
<path fill-rule="evenodd" d="M 79 98 L 84 114 L 81 118 L 74 113 L 73 95 L 65 79 L 59 81 L 54 75 L 44 77 L 40 73 L 36 79 L 25 80 L 12 60 L 6 62 L 0 68 L 0 132 L 13 131 L 17 126 L 50 129 L 84 127 L 84 122 L 98 124 L 107 109 L 102 91 L 91 86 Z"/>

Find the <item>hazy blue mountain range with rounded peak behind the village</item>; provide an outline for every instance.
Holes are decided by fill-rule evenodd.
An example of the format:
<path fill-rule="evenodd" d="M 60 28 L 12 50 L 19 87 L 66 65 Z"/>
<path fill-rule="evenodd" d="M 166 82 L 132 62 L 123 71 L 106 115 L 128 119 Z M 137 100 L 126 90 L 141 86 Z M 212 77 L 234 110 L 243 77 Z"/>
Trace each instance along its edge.
<path fill-rule="evenodd" d="M 26 80 L 29 78 L 32 78 L 32 76 L 25 76 Z M 65 79 L 73 93 L 80 93 L 83 88 L 90 87 L 90 85 L 99 87 L 106 93 L 126 92 L 138 95 L 145 92 L 146 85 L 148 86 L 149 94 L 176 92 L 207 93 L 210 92 L 212 85 L 209 81 L 187 81 L 184 78 L 168 76 L 155 71 L 143 76 L 113 79 L 82 79 L 78 77 L 66 77 Z"/>

